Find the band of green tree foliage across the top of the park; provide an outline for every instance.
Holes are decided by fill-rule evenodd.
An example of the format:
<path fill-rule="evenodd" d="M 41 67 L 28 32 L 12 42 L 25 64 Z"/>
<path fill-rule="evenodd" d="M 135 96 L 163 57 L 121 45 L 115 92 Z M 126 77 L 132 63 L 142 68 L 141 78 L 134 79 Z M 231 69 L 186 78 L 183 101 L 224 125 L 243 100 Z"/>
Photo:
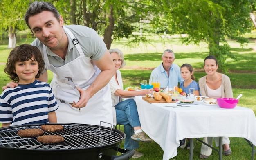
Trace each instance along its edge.
<path fill-rule="evenodd" d="M 219 59 L 226 71 L 231 53 L 228 39 L 241 45 L 248 42 L 243 35 L 253 25 L 249 13 L 255 0 L 45 0 L 56 6 L 65 24 L 80 24 L 96 30 L 107 48 L 116 39 L 128 38 L 128 46 L 148 43 L 145 35 L 163 32 L 187 34 L 184 44 L 208 44 L 209 55 Z M 2 0 L 0 33 L 10 26 L 27 28 L 23 16 L 32 0 Z M 143 31 L 141 31 L 143 29 Z M 139 35 L 138 32 L 143 32 Z"/>

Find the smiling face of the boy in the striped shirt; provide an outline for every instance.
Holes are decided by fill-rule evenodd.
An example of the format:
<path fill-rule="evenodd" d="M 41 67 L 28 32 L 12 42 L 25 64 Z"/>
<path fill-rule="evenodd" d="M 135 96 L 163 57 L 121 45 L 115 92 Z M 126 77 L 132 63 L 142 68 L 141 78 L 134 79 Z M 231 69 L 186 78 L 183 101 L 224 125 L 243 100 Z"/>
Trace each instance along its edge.
<path fill-rule="evenodd" d="M 28 61 L 18 61 L 15 63 L 15 72 L 19 77 L 18 84 L 30 84 L 35 81 L 38 74 L 38 62 L 34 61 L 34 57 Z"/>

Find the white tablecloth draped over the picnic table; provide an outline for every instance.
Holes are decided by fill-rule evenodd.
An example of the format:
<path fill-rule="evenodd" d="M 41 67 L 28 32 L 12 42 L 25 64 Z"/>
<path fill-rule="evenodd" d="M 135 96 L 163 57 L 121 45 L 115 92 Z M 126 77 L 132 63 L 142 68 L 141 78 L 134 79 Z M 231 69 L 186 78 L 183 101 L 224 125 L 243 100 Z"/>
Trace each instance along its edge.
<path fill-rule="evenodd" d="M 253 110 L 236 106 L 190 105 L 163 107 L 176 103 L 148 103 L 135 96 L 142 130 L 164 150 L 163 160 L 177 155 L 184 138 L 243 137 L 256 145 L 256 118 Z"/>

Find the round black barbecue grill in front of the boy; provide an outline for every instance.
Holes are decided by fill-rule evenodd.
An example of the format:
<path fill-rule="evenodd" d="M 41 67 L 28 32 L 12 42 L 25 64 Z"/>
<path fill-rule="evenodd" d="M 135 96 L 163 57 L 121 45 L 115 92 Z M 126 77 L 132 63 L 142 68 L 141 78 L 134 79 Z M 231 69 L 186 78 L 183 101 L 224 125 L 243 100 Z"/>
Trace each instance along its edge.
<path fill-rule="evenodd" d="M 134 154 L 134 150 L 119 148 L 126 135 L 117 129 L 73 123 L 55 124 L 63 125 L 64 129 L 44 132 L 43 135 L 63 136 L 65 140 L 56 144 L 42 144 L 37 137 L 22 138 L 17 134 L 23 129 L 40 129 L 43 124 L 0 128 L 0 159 L 128 160 Z M 117 152 L 123 154 L 116 156 Z"/>

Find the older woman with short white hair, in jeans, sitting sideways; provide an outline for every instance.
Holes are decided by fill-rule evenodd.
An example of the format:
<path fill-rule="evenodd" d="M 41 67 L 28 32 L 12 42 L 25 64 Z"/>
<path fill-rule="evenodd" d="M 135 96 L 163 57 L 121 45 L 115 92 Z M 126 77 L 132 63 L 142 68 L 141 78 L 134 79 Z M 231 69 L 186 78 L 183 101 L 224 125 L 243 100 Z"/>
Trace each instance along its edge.
<path fill-rule="evenodd" d="M 110 49 L 109 52 L 116 69 L 115 75 L 109 82 L 112 105 L 115 107 L 114 119 L 116 116 L 116 123 L 124 125 L 124 133 L 126 134 L 124 148 L 137 149 L 139 148 L 138 142 L 150 143 L 152 142 L 152 139 L 148 138 L 141 130 L 135 101 L 133 99 L 122 101 L 122 98 L 146 95 L 148 93 L 153 94 L 153 89 L 124 91 L 122 76 L 119 71 L 119 68 L 122 68 L 125 65 L 124 54 L 119 49 Z M 143 154 L 135 150 L 133 158 L 139 158 L 141 156 L 143 156 Z"/>

